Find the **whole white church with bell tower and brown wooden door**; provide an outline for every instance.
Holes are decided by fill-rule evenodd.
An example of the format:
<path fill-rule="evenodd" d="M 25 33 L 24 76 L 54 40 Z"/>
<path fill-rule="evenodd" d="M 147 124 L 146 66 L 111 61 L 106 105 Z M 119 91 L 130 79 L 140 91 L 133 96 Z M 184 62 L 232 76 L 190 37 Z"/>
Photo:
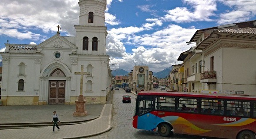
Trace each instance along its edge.
<path fill-rule="evenodd" d="M 82 93 L 86 104 L 105 104 L 111 91 L 106 55 L 106 0 L 79 0 L 75 37 L 56 35 L 38 45 L 6 43 L 3 58 L 2 105 L 75 104 Z M 89 73 L 88 73 L 89 72 Z"/>

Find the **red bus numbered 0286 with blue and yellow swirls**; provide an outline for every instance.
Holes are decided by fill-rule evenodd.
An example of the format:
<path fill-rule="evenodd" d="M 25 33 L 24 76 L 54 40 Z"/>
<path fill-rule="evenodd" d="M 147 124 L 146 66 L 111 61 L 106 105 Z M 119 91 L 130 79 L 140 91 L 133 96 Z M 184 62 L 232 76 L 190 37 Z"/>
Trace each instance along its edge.
<path fill-rule="evenodd" d="M 140 92 L 134 128 L 225 139 L 256 139 L 256 96 Z"/>

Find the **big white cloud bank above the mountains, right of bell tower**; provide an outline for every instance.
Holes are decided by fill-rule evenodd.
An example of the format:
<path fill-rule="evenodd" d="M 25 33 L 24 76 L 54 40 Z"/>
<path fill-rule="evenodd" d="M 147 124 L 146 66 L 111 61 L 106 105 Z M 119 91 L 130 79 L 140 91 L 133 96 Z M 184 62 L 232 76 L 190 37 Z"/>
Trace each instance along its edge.
<path fill-rule="evenodd" d="M 128 41 L 125 43 L 133 44 L 137 48 L 132 49 L 133 53 L 124 51 L 123 55 L 119 54 L 122 58 L 110 58 L 110 63 L 115 64 L 111 68 L 122 68 L 130 71 L 134 65 L 148 65 L 152 71 L 161 71 L 163 69 L 159 67 L 166 68 L 174 63 L 181 63 L 181 61 L 177 61 L 177 58 L 181 52 L 192 47 L 192 45 L 187 45 L 185 42 L 191 39 L 194 32 L 196 32 L 194 27 L 186 29 L 179 25 L 169 25 L 165 29 L 152 34 L 144 34 L 142 36 L 136 36 L 135 34 L 125 35 L 122 38 Z M 188 34 L 191 34 L 191 36 L 188 36 Z M 117 46 L 112 46 L 112 48 L 116 49 L 112 49 L 113 53 L 119 50 Z"/>

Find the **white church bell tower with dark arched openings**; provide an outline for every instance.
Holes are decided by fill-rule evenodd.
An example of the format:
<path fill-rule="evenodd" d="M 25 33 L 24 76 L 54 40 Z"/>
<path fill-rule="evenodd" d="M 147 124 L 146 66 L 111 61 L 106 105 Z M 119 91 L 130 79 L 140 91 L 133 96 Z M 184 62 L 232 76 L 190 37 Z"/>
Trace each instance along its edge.
<path fill-rule="evenodd" d="M 79 0 L 79 25 L 75 25 L 77 54 L 105 55 L 106 0 Z"/>

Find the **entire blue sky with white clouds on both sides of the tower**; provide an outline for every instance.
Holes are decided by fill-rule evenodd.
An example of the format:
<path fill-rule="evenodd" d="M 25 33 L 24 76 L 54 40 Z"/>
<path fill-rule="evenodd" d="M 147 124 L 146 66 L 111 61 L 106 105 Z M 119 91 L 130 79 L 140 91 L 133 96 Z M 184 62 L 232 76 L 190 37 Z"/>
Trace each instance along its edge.
<path fill-rule="evenodd" d="M 39 44 L 56 34 L 75 36 L 79 0 L 1 0 L 0 52 L 7 40 Z M 112 70 L 134 65 L 158 72 L 174 64 L 199 29 L 256 20 L 256 0 L 107 0 L 106 54 Z M 0 61 L 2 58 L 0 57 Z M 154 75 L 154 74 L 153 74 Z"/>

